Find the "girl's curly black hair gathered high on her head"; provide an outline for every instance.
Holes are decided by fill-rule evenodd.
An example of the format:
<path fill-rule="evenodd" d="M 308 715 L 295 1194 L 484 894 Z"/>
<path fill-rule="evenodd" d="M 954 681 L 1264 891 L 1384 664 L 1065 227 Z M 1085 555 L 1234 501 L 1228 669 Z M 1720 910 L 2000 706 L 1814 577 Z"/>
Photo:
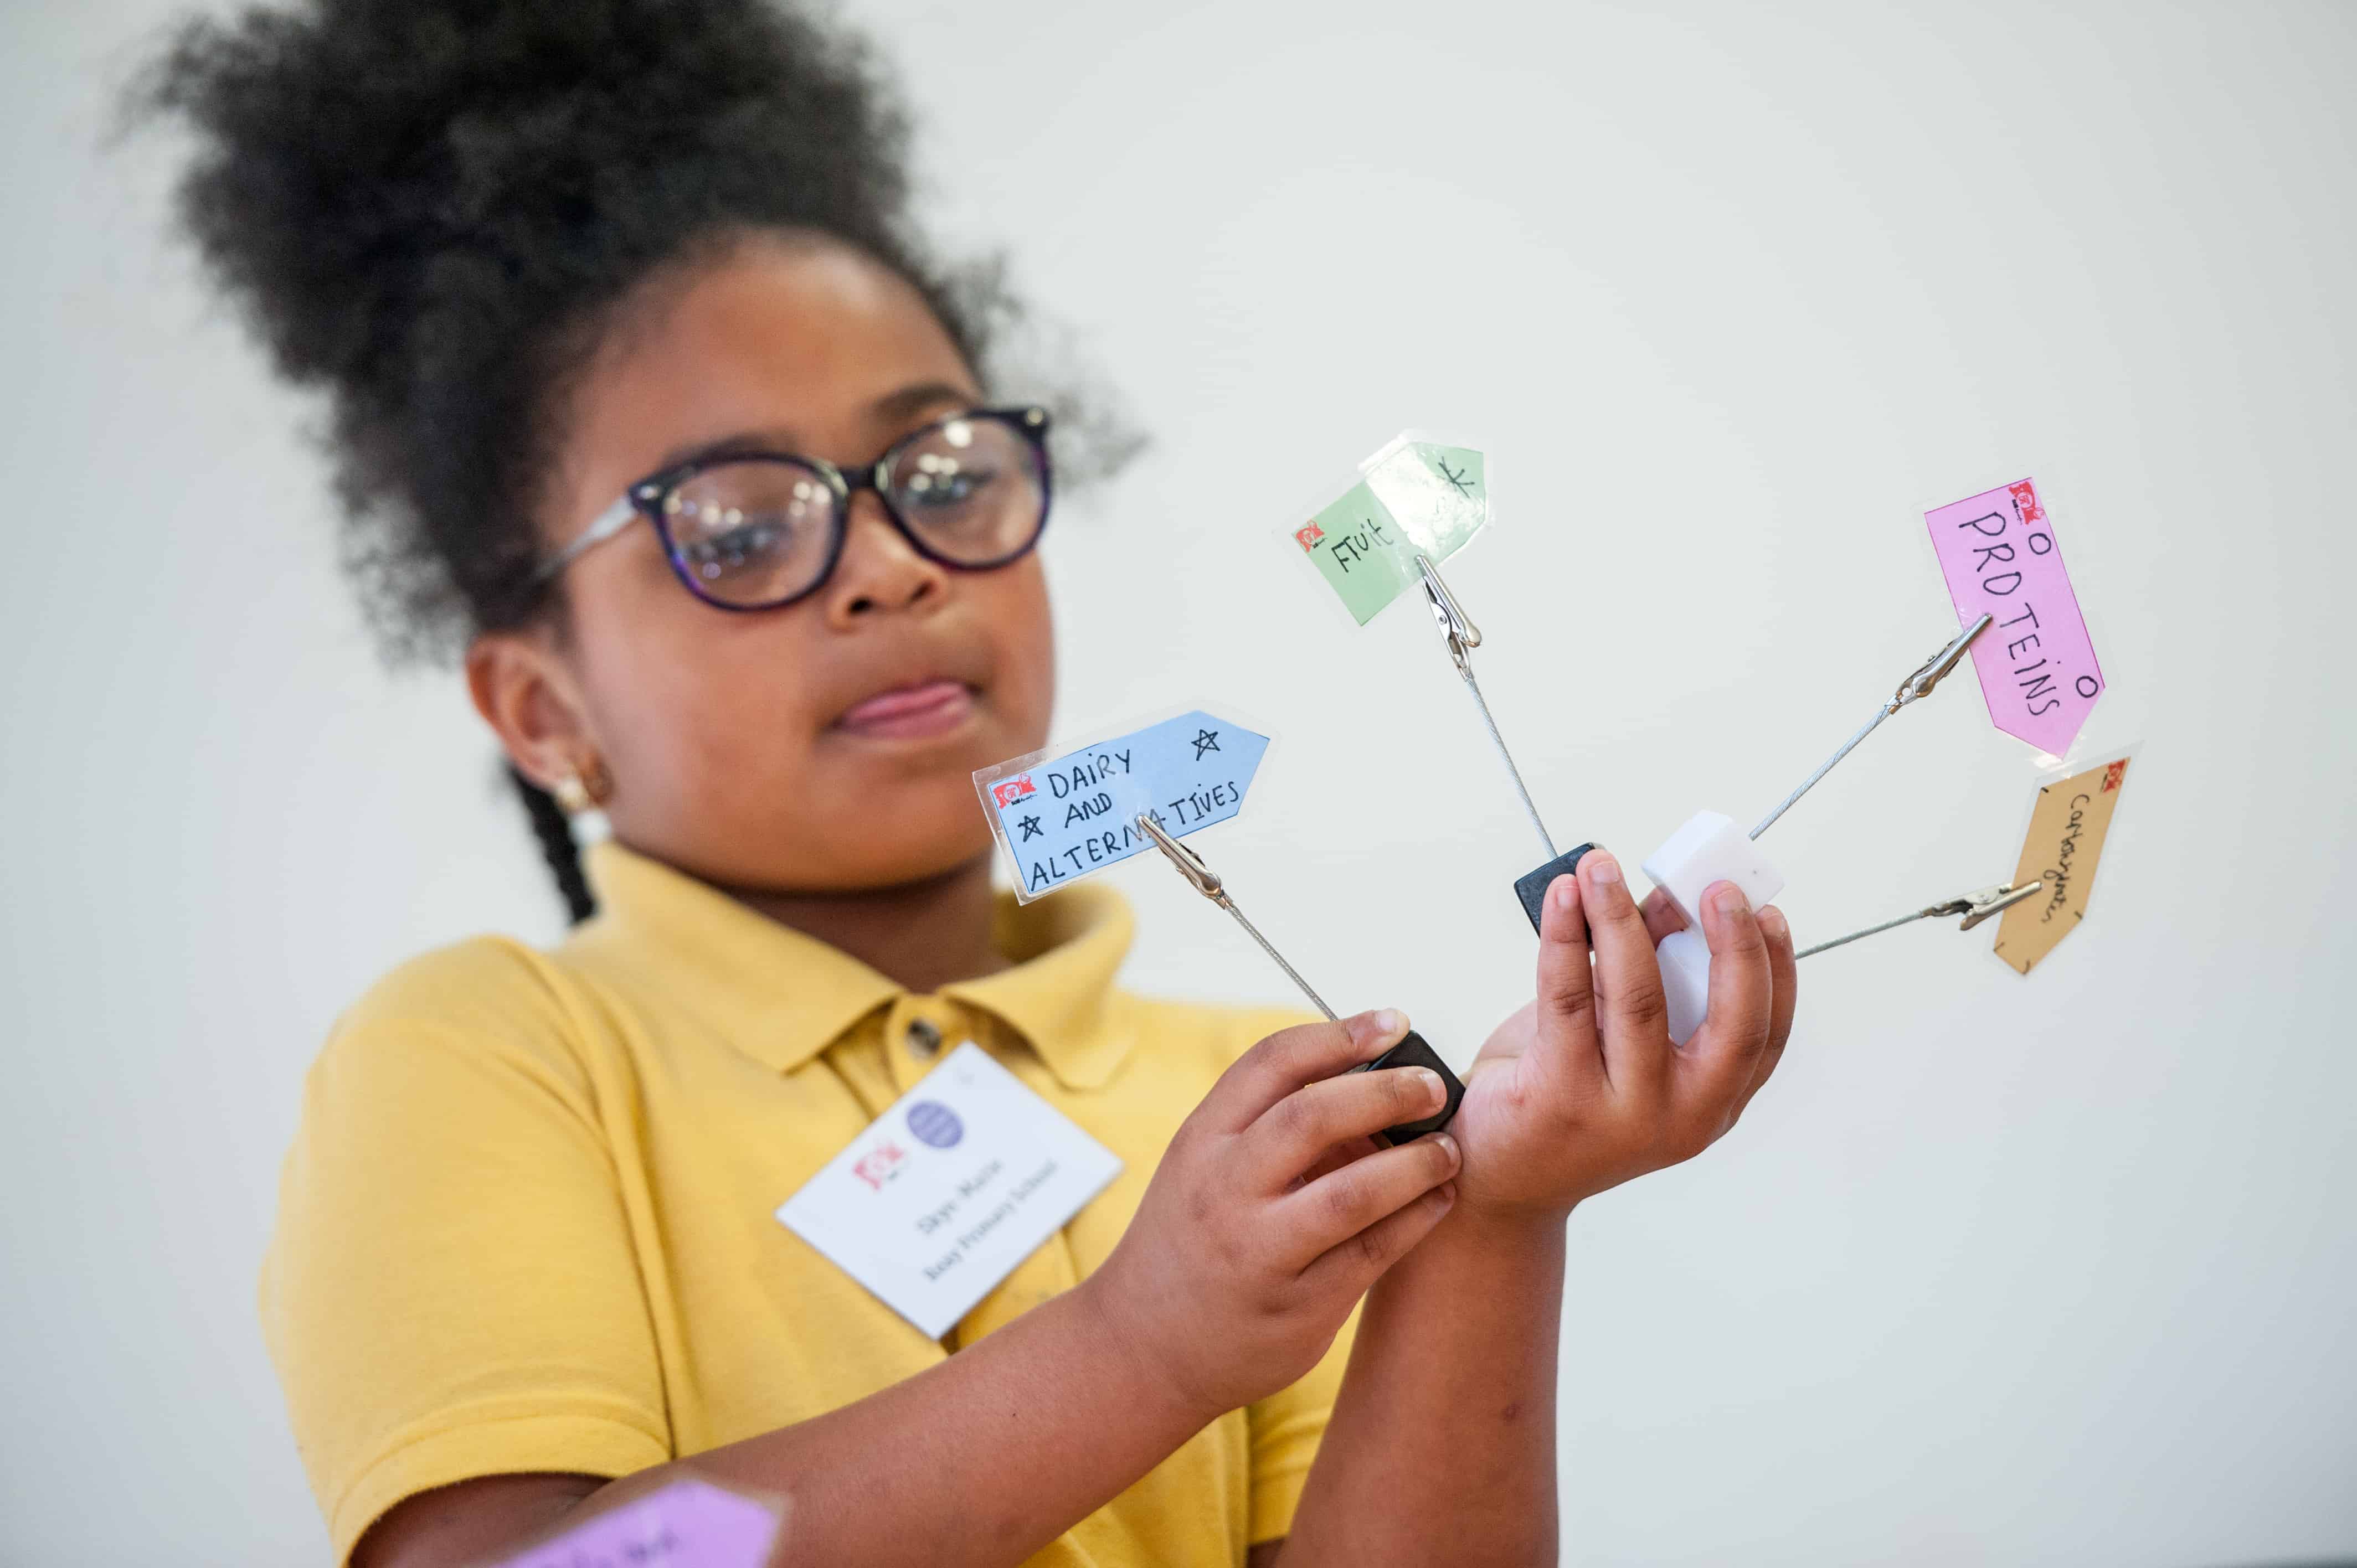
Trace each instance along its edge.
<path fill-rule="evenodd" d="M 342 556 L 389 663 L 528 622 L 568 377 L 658 269 L 816 231 L 907 278 L 985 375 L 997 262 L 910 224 L 867 45 L 785 0 L 292 0 L 172 33 L 139 118 L 196 132 L 179 219 L 280 375 L 328 401 Z M 1072 422 L 1068 420 L 1068 427 Z M 1098 472 L 1138 441 L 1077 420 Z M 568 913 L 592 903 L 521 773 Z"/>

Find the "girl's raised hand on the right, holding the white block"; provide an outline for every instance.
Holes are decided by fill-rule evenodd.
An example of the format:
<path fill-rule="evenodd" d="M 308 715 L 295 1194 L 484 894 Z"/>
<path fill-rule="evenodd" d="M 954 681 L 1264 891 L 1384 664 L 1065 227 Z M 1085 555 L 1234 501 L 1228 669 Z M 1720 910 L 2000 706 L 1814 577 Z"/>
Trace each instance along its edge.
<path fill-rule="evenodd" d="M 1546 891 L 1539 995 L 1506 1019 L 1466 1075 L 1450 1132 L 1464 1148 L 1459 1214 L 1560 1219 L 1593 1193 L 1690 1160 L 1742 1115 L 1791 1033 L 1791 927 L 1730 882 L 1704 891 L 1711 995 L 1671 1045 L 1657 929 L 1603 849 Z M 1593 955 L 1593 962 L 1591 962 Z"/>

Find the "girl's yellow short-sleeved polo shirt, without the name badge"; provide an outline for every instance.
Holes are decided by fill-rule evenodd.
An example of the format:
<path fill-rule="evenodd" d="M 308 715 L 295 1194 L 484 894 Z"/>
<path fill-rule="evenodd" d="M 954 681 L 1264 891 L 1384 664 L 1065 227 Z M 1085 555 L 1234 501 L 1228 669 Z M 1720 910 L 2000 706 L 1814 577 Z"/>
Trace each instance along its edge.
<path fill-rule="evenodd" d="M 601 913 L 554 953 L 401 967 L 306 1080 L 262 1325 L 337 1561 L 415 1493 L 792 1427 L 1070 1290 L 1211 1080 L 1299 1021 L 1120 990 L 1131 917 L 1103 887 L 1006 898 L 1016 967 L 910 995 L 620 844 L 589 872 Z M 962 1040 L 1124 1170 L 933 1342 L 773 1210 Z M 1346 1356 L 1348 1330 L 1032 1563 L 1235 1566 L 1285 1535 Z"/>

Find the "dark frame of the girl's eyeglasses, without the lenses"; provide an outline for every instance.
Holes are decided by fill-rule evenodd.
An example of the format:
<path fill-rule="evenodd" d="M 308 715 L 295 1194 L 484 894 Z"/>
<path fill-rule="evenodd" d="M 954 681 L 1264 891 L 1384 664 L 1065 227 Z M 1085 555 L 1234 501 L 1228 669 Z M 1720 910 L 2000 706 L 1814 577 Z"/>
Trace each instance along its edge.
<path fill-rule="evenodd" d="M 1006 424 L 1018 436 L 1023 436 L 1023 441 L 1032 450 L 1032 460 L 1039 467 L 1039 521 L 1037 521 L 1037 526 L 1032 526 L 1030 538 L 1023 540 L 1023 545 L 1018 549 L 1011 549 L 1011 552 L 1006 552 L 1002 556 L 995 556 L 990 561 L 955 561 L 955 559 L 940 554 L 938 549 L 933 549 L 924 540 L 924 535 L 905 516 L 900 516 L 900 507 L 896 507 L 893 498 L 891 498 L 893 462 L 898 462 L 912 446 L 917 446 L 926 436 L 936 436 L 936 434 L 940 434 L 943 427 L 957 424 L 959 420 L 964 420 L 964 422 L 990 420 L 992 424 Z M 603 512 L 599 512 L 596 519 L 587 528 L 582 528 L 577 535 L 573 535 L 570 545 L 566 545 L 554 556 L 549 556 L 547 561 L 540 564 L 540 571 L 533 573 L 533 587 L 535 589 L 544 587 L 547 582 L 552 582 L 556 578 L 556 573 L 561 573 L 575 559 L 580 559 L 589 549 L 596 549 L 599 545 L 603 545 L 606 540 L 610 540 L 613 535 L 622 533 L 625 528 L 629 528 L 632 523 L 636 523 L 636 521 L 643 519 L 655 531 L 655 538 L 662 540 L 662 559 L 672 564 L 672 575 L 679 578 L 681 587 L 686 587 L 691 594 L 695 594 L 702 604 L 709 604 L 717 611 L 747 611 L 747 613 L 750 611 L 783 611 L 790 604 L 799 604 L 801 599 L 808 599 L 811 594 L 816 594 L 818 589 L 823 589 L 834 578 L 834 568 L 844 559 L 844 545 L 851 540 L 851 498 L 858 495 L 860 490 L 874 490 L 877 502 L 882 502 L 882 507 L 884 507 L 884 516 L 900 533 L 900 538 L 907 540 L 910 547 L 917 554 L 922 554 L 926 561 L 933 561 L 936 566 L 948 566 L 950 571 L 997 571 L 999 566 L 1014 566 L 1016 561 L 1021 561 L 1023 556 L 1028 556 L 1032 549 L 1037 549 L 1039 547 L 1039 535 L 1047 533 L 1047 516 L 1049 516 L 1049 509 L 1051 509 L 1051 502 L 1054 502 L 1054 493 L 1056 493 L 1056 474 L 1054 474 L 1054 465 L 1049 462 L 1049 455 L 1047 455 L 1047 429 L 1049 429 L 1049 415 L 1047 415 L 1044 408 L 1035 408 L 1035 406 L 1018 406 L 1018 408 L 969 408 L 964 413 L 943 415 L 943 417 L 938 417 L 938 420 L 933 420 L 929 424 L 919 424 L 917 429 L 907 431 L 905 436 L 900 436 L 898 441 L 893 441 L 891 446 L 886 446 L 882 457 L 877 457 L 874 462 L 870 462 L 865 467 L 853 467 L 853 469 L 841 469 L 841 467 L 827 462 L 825 457 L 804 457 L 801 453 L 775 453 L 775 450 L 761 450 L 761 448 L 712 453 L 707 457 L 691 457 L 691 460 L 676 462 L 676 465 L 672 465 L 667 469 L 658 469 L 658 472 L 648 474 L 646 479 L 632 483 L 627 490 L 622 490 L 620 500 L 615 500 L 610 507 L 606 507 Z M 733 462 L 780 462 L 780 465 L 808 469 L 811 474 L 816 474 L 818 479 L 823 479 L 830 490 L 834 490 L 834 521 L 832 521 L 832 538 L 827 540 L 827 559 L 818 568 L 818 575 L 811 578 L 808 587 L 794 589 L 792 594 L 785 594 L 783 599 L 764 599 L 759 604 L 733 604 L 728 599 L 714 599 L 695 580 L 695 573 L 688 571 L 686 559 L 681 559 L 679 547 L 672 542 L 672 523 L 669 523 L 669 512 L 667 512 L 672 493 L 679 490 L 679 486 L 684 486 L 691 479 L 695 479 L 698 474 L 702 474 L 707 469 L 726 467 L 726 465 L 733 465 Z"/>

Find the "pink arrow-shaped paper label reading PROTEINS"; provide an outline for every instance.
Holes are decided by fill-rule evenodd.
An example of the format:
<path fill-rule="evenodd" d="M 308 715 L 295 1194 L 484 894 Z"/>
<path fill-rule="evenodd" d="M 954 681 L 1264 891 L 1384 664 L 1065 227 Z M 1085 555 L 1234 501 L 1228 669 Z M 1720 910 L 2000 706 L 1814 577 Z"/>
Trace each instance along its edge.
<path fill-rule="evenodd" d="M 2032 481 L 1999 486 L 1926 512 L 1930 547 L 1947 573 L 1961 625 L 1994 625 L 1973 639 L 1980 696 L 1996 729 L 2062 757 L 2102 696 L 2102 667 L 2086 639 L 2079 594 L 2062 571 L 2053 521 Z"/>

